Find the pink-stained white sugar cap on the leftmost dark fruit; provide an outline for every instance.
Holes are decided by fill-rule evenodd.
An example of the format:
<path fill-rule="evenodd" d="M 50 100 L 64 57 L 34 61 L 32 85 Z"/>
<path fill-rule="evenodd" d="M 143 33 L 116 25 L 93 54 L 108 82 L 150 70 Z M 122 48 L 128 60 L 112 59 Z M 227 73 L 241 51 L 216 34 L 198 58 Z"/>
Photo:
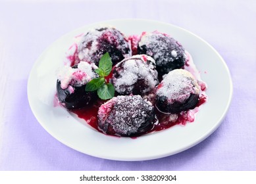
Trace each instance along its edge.
<path fill-rule="evenodd" d="M 80 62 L 77 68 L 66 65 L 59 68 L 57 70 L 57 78 L 61 81 L 61 88 L 66 89 L 68 85 L 81 86 L 88 83 L 88 81 L 97 77 L 97 74 L 93 72 L 93 68 L 95 68 L 95 65 L 88 62 Z"/>

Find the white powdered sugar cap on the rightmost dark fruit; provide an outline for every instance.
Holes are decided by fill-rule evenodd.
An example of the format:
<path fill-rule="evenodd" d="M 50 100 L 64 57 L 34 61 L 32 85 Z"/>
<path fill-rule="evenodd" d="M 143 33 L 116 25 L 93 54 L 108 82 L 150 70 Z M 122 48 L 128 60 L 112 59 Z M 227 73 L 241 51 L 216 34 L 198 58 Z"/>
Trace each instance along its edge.
<path fill-rule="evenodd" d="M 176 69 L 165 76 L 157 95 L 167 97 L 169 103 L 183 103 L 191 94 L 199 95 L 199 91 L 199 85 L 190 72 Z"/>

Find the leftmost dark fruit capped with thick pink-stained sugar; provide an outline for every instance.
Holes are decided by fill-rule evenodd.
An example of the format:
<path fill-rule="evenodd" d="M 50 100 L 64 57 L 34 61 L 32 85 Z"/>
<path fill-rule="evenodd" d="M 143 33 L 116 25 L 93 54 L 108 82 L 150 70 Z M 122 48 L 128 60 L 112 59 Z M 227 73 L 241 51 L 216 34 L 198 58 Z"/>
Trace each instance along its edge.
<path fill-rule="evenodd" d="M 93 68 L 97 66 L 80 62 L 73 67 L 63 66 L 57 71 L 57 97 L 68 110 L 83 108 L 97 97 L 94 91 L 86 91 L 86 84 L 98 77 Z"/>

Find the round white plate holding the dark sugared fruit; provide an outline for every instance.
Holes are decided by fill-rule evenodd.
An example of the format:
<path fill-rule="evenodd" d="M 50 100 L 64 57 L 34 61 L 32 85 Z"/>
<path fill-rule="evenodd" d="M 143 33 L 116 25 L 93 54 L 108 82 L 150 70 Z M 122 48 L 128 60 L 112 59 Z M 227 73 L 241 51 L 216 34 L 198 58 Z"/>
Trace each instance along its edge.
<path fill-rule="evenodd" d="M 54 107 L 56 69 L 74 36 L 101 24 L 115 26 L 126 35 L 158 30 L 172 35 L 192 55 L 202 80 L 208 85 L 209 101 L 201 106 L 195 122 L 131 139 L 103 135 L 61 106 Z M 204 72 L 207 72 L 206 74 Z M 111 20 L 74 30 L 44 51 L 36 60 L 28 79 L 28 100 L 38 122 L 55 139 L 68 147 L 111 160 L 151 160 L 189 149 L 211 135 L 221 124 L 232 97 L 230 72 L 220 55 L 203 39 L 177 26 L 151 20 Z"/>

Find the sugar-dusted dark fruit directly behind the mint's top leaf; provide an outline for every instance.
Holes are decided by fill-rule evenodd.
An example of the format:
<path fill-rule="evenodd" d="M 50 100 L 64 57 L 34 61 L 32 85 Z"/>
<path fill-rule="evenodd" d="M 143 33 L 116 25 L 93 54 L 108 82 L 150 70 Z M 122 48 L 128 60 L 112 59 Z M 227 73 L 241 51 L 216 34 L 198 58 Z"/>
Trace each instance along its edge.
<path fill-rule="evenodd" d="M 83 35 L 78 43 L 79 60 L 99 64 L 100 58 L 109 53 L 113 64 L 132 56 L 128 39 L 111 27 L 96 28 Z"/>

